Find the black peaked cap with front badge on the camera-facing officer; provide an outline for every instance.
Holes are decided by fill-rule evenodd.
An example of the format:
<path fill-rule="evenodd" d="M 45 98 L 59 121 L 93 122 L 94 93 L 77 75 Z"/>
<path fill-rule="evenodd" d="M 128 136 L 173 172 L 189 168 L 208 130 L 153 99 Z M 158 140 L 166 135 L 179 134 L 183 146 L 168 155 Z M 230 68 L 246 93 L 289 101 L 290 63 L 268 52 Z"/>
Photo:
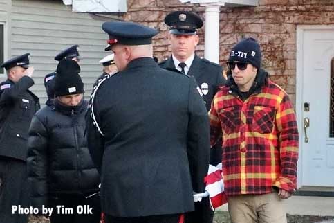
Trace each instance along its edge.
<path fill-rule="evenodd" d="M 169 26 L 171 34 L 196 35 L 197 29 L 203 26 L 203 21 L 195 12 L 176 11 L 165 17 L 165 24 Z"/>

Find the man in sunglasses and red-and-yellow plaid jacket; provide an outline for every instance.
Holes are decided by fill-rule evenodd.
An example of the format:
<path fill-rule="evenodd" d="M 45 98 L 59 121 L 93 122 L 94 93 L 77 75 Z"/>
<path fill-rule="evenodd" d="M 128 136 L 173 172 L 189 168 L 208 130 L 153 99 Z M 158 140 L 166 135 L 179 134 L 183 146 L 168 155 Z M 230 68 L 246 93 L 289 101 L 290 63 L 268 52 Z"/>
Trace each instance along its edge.
<path fill-rule="evenodd" d="M 230 52 L 228 82 L 209 111 L 211 144 L 223 136 L 223 179 L 232 222 L 286 222 L 296 188 L 298 130 L 287 93 L 261 69 L 255 39 Z"/>

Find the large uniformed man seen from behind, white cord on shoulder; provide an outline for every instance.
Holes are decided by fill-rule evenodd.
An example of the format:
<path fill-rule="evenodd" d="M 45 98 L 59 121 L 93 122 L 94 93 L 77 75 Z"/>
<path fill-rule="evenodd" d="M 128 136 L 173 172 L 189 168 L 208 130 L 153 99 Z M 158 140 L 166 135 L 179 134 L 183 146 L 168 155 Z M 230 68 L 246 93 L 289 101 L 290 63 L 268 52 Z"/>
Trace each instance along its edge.
<path fill-rule="evenodd" d="M 106 222 L 178 223 L 205 190 L 210 145 L 196 82 L 152 58 L 158 32 L 106 22 L 119 72 L 93 87 L 87 137 Z"/>

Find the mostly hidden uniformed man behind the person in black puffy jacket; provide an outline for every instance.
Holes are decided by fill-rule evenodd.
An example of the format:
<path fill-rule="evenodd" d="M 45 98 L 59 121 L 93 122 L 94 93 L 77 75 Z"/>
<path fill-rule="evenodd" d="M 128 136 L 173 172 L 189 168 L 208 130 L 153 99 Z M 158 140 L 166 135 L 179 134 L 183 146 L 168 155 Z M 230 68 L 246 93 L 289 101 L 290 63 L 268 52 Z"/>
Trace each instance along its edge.
<path fill-rule="evenodd" d="M 66 58 L 72 59 L 75 62 L 80 62 L 80 55 L 79 55 L 79 45 L 73 45 L 69 48 L 64 49 L 64 51 L 58 53 L 55 56 L 55 60 L 60 61 Z M 48 95 L 48 100 L 46 100 L 46 105 L 50 106 L 53 105 L 53 98 L 55 97 L 55 75 L 57 72 L 48 73 L 44 77 L 44 86 L 46 89 L 46 94 Z"/>

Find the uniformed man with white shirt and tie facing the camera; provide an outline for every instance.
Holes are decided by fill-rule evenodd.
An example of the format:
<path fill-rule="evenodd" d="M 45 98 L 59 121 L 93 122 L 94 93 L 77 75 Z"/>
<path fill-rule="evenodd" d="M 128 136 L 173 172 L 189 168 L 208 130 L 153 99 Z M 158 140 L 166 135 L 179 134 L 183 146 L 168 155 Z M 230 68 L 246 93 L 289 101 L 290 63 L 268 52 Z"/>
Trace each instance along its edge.
<path fill-rule="evenodd" d="M 178 69 L 182 73 L 193 76 L 203 94 L 207 111 L 210 110 L 212 98 L 225 83 L 223 68 L 219 64 L 201 59 L 195 53 L 199 37 L 197 29 L 203 26 L 201 17 L 194 12 L 176 11 L 165 17 L 165 24 L 170 27 L 171 57 L 159 65 L 164 69 Z M 221 141 L 210 150 L 210 164 L 221 163 Z M 211 223 L 213 211 L 209 198 L 196 202 L 196 212 L 186 216 L 189 223 Z"/>

